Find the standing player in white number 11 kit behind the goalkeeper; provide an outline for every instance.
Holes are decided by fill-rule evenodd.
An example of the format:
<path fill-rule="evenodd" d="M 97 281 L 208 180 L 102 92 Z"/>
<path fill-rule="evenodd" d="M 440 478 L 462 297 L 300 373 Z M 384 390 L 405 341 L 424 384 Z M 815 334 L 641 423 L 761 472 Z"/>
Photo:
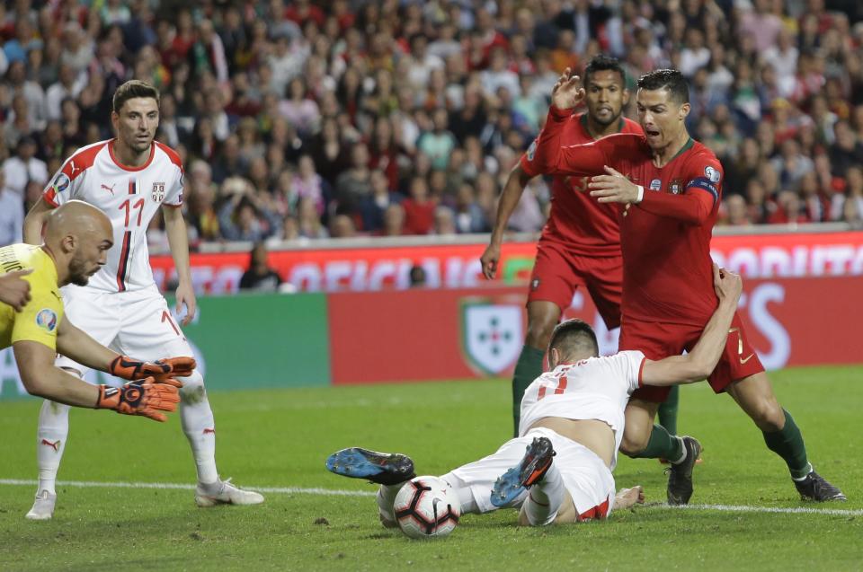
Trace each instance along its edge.
<path fill-rule="evenodd" d="M 189 342 L 173 321 L 153 280 L 147 253 L 147 226 L 161 209 L 179 286 L 177 307 L 185 306 L 181 325 L 195 313 L 189 244 L 182 219 L 182 162 L 176 152 L 154 140 L 159 127 L 159 92 L 132 80 L 120 85 L 112 100 L 115 139 L 86 145 L 54 175 L 24 219 L 24 242 L 38 244 L 45 216 L 71 198 L 99 207 L 111 218 L 112 242 L 105 266 L 88 286 L 63 288 L 67 312 L 78 327 L 100 343 L 137 356 L 162 353 L 191 356 Z M 58 366 L 79 376 L 89 366 L 59 358 Z M 216 468 L 216 425 L 204 378 L 198 369 L 182 378 L 180 419 L 198 470 L 195 503 L 254 505 L 263 497 L 221 480 Z M 69 431 L 68 408 L 45 402 L 39 415 L 36 458 L 39 485 L 30 518 L 50 518 L 55 480 Z M 55 445 L 46 446 L 45 443 Z M 48 498 L 49 500 L 44 500 Z"/>

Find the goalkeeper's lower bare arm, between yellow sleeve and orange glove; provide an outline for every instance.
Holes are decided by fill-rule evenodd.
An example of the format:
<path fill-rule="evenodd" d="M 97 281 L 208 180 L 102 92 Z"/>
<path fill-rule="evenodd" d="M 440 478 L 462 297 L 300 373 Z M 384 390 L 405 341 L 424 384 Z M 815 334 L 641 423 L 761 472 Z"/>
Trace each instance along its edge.
<path fill-rule="evenodd" d="M 38 341 L 13 344 L 24 389 L 31 395 L 75 407 L 94 409 L 99 388 L 54 365 L 54 350 Z"/>

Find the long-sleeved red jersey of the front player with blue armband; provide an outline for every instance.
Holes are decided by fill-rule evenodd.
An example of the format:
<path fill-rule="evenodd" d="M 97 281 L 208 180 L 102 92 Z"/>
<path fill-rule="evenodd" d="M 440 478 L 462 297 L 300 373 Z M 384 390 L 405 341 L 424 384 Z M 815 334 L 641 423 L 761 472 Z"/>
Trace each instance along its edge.
<path fill-rule="evenodd" d="M 589 175 L 609 165 L 645 188 L 620 213 L 623 301 L 627 319 L 703 326 L 716 310 L 710 236 L 722 189 L 722 165 L 690 139 L 665 166 L 654 166 L 645 136 L 612 135 L 563 146 L 569 115 L 552 108 L 534 163 L 558 175 Z M 592 199 L 595 200 L 595 199 Z"/>

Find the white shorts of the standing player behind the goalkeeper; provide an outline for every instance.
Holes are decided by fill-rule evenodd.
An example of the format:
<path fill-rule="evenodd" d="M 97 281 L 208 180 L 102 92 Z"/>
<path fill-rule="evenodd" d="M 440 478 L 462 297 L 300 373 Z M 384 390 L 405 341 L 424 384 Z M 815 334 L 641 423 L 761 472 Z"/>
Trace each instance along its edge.
<path fill-rule="evenodd" d="M 102 346 L 146 361 L 192 356 L 189 342 L 156 285 L 130 292 L 64 286 L 60 292 L 66 319 Z M 58 356 L 55 364 L 82 375 L 89 370 L 66 356 Z"/>

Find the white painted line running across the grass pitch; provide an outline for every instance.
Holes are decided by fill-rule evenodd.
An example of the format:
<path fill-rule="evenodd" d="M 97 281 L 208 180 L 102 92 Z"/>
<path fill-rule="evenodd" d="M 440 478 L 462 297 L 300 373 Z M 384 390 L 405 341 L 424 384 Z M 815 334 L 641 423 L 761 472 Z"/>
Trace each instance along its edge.
<path fill-rule="evenodd" d="M 29 486 L 39 484 L 37 480 L 0 479 L 0 486 Z M 58 487 L 78 488 L 158 488 L 192 490 L 195 485 L 173 482 L 102 482 L 96 480 L 58 480 Z M 324 497 L 374 497 L 376 493 L 366 490 L 344 490 L 339 488 L 300 488 L 300 487 L 244 487 L 262 493 L 283 495 L 319 495 Z M 828 515 L 828 516 L 863 516 L 863 510 L 848 510 L 841 508 L 808 508 L 805 506 L 745 506 L 745 505 L 651 505 L 645 509 L 659 510 L 716 510 L 727 513 L 772 513 L 780 515 Z"/>

